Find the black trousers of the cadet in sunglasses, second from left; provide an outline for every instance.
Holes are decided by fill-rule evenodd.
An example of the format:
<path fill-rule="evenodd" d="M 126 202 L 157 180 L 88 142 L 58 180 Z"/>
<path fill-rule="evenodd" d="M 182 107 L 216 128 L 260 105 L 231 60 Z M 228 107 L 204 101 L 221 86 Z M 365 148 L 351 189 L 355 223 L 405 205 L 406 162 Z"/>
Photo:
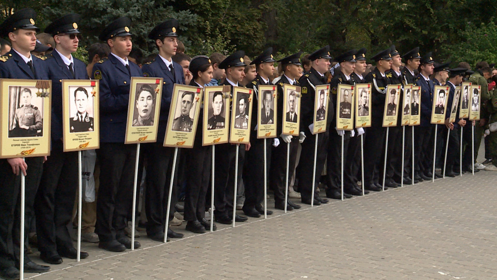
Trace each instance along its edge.
<path fill-rule="evenodd" d="M 78 152 L 64 152 L 62 141 L 53 141 L 34 205 L 38 250 L 47 256 L 74 248 L 67 225 L 73 215 L 78 175 Z"/>

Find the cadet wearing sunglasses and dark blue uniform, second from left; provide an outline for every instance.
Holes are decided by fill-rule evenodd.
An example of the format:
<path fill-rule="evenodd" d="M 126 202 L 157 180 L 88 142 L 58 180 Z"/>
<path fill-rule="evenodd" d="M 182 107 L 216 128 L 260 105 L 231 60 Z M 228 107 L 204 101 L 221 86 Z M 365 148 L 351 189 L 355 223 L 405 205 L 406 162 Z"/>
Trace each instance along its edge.
<path fill-rule="evenodd" d="M 62 263 L 61 257 L 78 257 L 67 228 L 78 189 L 78 152 L 63 149 L 62 80 L 88 79 L 84 63 L 71 54 L 78 49 L 80 18 L 78 14 L 68 14 L 45 29 L 56 42 L 55 51 L 45 61 L 52 80 L 52 151 L 43 167 L 35 214 L 38 250 L 41 259 L 49 264 Z M 86 257 L 88 253 L 81 252 L 81 258 Z"/>

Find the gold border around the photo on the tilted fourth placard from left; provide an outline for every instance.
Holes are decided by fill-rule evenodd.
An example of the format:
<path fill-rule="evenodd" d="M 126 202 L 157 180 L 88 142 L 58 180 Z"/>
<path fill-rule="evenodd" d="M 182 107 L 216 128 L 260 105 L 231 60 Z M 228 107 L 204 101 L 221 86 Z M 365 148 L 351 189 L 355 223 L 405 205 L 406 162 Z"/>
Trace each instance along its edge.
<path fill-rule="evenodd" d="M 179 91 L 193 92 L 197 96 L 193 98 L 193 106 L 195 106 L 195 113 L 193 117 L 193 124 L 191 127 L 191 132 L 184 131 L 174 131 L 172 130 L 172 124 L 174 122 L 174 113 L 176 110 L 176 103 L 178 102 Z M 169 116 L 167 117 L 167 128 L 166 136 L 164 137 L 163 145 L 165 147 L 181 147 L 181 148 L 193 148 L 193 142 L 195 141 L 195 134 L 197 132 L 198 116 L 200 114 L 200 105 L 202 103 L 203 90 L 199 87 L 185 86 L 174 84 L 172 89 L 171 107 L 169 108 Z M 190 109 L 191 111 L 191 109 Z"/>

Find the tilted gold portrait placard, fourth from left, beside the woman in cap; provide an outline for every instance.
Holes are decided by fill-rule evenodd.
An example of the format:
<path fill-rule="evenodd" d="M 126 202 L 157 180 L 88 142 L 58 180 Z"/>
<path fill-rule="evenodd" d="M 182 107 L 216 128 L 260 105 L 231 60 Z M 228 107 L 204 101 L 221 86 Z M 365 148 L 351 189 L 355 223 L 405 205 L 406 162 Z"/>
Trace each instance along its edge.
<path fill-rule="evenodd" d="M 165 147 L 193 147 L 201 103 L 201 88 L 174 84 L 164 138 Z"/>

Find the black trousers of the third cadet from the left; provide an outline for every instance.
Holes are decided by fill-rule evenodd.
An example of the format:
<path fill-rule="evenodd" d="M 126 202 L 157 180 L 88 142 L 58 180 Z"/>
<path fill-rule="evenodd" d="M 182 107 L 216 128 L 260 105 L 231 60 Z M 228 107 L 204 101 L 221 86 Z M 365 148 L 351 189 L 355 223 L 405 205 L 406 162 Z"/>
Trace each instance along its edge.
<path fill-rule="evenodd" d="M 100 242 L 109 242 L 125 236 L 126 215 L 133 202 L 136 145 L 100 143 L 97 151 L 101 176 L 95 233 Z"/>

